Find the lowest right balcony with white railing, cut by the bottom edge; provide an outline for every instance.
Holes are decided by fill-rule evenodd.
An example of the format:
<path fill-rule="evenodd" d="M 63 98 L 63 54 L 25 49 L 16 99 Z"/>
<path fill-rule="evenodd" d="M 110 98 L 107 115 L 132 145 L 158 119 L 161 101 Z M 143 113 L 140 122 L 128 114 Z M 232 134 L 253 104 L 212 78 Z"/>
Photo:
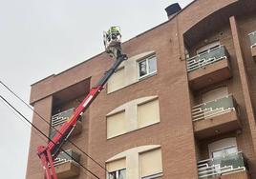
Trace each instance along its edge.
<path fill-rule="evenodd" d="M 249 179 L 246 169 L 247 161 L 242 152 L 198 162 L 199 178 L 202 179 Z"/>

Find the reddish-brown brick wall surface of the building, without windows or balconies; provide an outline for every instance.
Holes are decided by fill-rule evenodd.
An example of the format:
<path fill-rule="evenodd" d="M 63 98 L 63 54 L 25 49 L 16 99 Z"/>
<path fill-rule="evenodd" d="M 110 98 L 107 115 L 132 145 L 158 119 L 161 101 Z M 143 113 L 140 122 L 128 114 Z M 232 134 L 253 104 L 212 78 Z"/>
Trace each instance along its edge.
<path fill-rule="evenodd" d="M 245 0 L 243 2 L 246 3 L 247 1 L 248 0 Z M 210 40 L 220 39 L 231 55 L 233 78 L 217 86 L 226 84 L 228 90 L 234 94 L 238 101 L 243 120 L 242 133 L 238 134 L 236 131 L 233 131 L 207 140 L 195 141 L 191 119 L 191 104 L 193 105 L 200 102 L 200 96 L 203 91 L 216 88 L 217 86 L 209 87 L 198 92 L 189 89 L 186 63 L 184 60 L 183 33 L 201 23 L 208 15 L 214 16 L 213 12 L 222 12 L 222 9 L 229 4 L 230 10 L 232 10 L 234 7 L 231 5 L 233 5 L 234 2 L 237 1 L 195 1 L 185 10 L 182 10 L 174 19 L 125 42 L 123 44 L 123 50 L 128 56 L 134 56 L 150 50 L 156 51 L 158 58 L 157 75 L 117 90 L 111 94 L 107 94 L 104 89 L 91 105 L 90 109 L 87 110 L 85 120 L 83 120 L 83 132 L 73 138 L 73 142 L 86 152 L 89 152 L 101 165 L 104 165 L 108 158 L 123 150 L 142 145 L 160 145 L 163 159 L 162 178 L 196 179 L 197 158 L 207 157 L 206 147 L 208 143 L 223 137 L 236 136 L 239 149 L 243 150 L 245 155 L 252 159 L 250 162 L 251 166 L 256 165 L 253 158 L 254 153 L 251 147 L 251 133 L 247 122 L 245 100 L 242 93 L 241 79 L 229 24 L 200 38 Z M 250 16 L 245 17 L 245 19 L 241 18 L 239 25 L 247 27 L 242 29 L 244 31 L 243 34 L 255 28 L 256 25 L 251 25 L 251 23 L 254 24 L 255 21 L 253 21 Z M 205 30 L 207 30 L 206 26 Z M 223 34 L 220 35 L 220 32 L 223 32 Z M 200 36 L 200 31 L 197 35 Z M 248 57 L 248 50 L 246 50 L 247 41 L 243 40 L 242 42 L 245 43 L 243 46 L 243 49 L 245 48 L 245 57 L 247 60 L 251 60 Z M 191 50 L 195 50 L 197 47 L 201 46 L 202 43 L 203 41 L 199 40 Z M 66 89 L 90 77 L 91 86 L 96 85 L 96 81 L 112 63 L 113 61 L 107 54 L 101 53 L 96 55 L 93 59 L 77 65 L 75 68 L 38 82 L 32 85 L 31 103 L 34 105 L 35 109 L 50 120 L 53 103 L 51 96 L 53 93 L 61 89 Z M 256 86 L 253 85 L 253 79 L 254 76 L 256 76 L 256 70 L 253 70 L 255 64 L 246 62 L 246 66 L 249 70 L 251 89 L 254 90 L 256 88 Z M 128 101 L 150 95 L 159 96 L 160 123 L 107 140 L 105 115 L 112 109 L 116 109 L 118 106 Z M 252 96 L 253 95 L 254 93 L 252 92 Z M 256 103 L 254 99 L 253 103 Z M 70 107 L 70 104 L 66 106 Z M 49 132 L 47 125 L 42 123 L 38 117 L 33 116 L 33 123 L 40 126 L 46 133 Z M 43 176 L 43 169 L 36 155 L 36 147 L 39 144 L 44 144 L 44 142 L 40 141 L 35 134 L 32 134 L 27 169 L 28 179 L 42 178 Z M 69 148 L 71 148 L 71 145 L 67 144 L 65 149 Z M 104 170 L 100 169 L 85 156 L 82 156 L 81 163 L 88 169 L 92 169 L 96 172 L 100 178 L 105 178 Z M 86 174 L 81 171 L 79 177 L 76 178 L 86 178 Z"/>

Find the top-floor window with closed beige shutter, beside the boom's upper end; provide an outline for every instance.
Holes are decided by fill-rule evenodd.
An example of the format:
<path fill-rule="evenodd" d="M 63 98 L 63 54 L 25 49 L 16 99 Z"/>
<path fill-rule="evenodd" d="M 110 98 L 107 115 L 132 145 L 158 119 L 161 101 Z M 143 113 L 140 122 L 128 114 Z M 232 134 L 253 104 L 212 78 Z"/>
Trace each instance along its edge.
<path fill-rule="evenodd" d="M 108 92 L 113 92 L 117 89 L 123 88 L 124 83 L 124 68 L 117 70 L 109 79 L 107 90 Z"/>

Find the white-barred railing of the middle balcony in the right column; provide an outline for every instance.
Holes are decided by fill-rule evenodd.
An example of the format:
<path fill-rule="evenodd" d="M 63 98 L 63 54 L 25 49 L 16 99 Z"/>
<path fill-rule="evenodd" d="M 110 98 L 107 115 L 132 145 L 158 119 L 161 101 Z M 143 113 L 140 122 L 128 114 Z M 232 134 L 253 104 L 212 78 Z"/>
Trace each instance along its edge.
<path fill-rule="evenodd" d="M 193 121 L 209 119 L 235 110 L 236 106 L 237 103 L 234 97 L 230 94 L 224 98 L 209 101 L 193 107 L 192 119 Z"/>

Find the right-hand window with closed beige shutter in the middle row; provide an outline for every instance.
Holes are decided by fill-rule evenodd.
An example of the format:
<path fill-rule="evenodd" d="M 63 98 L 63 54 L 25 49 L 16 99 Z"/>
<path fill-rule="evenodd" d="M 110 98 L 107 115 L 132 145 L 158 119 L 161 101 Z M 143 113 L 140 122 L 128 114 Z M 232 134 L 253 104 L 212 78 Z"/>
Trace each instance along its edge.
<path fill-rule="evenodd" d="M 138 105 L 138 127 L 143 128 L 160 122 L 159 100 Z"/>

